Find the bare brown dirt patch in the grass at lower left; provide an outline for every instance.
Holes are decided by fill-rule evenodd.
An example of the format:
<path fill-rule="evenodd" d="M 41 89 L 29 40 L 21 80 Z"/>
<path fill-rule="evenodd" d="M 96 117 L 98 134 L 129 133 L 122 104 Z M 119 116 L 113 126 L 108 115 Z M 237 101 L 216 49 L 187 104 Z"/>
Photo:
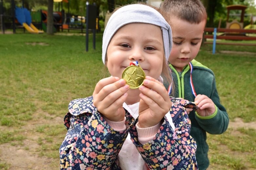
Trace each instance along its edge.
<path fill-rule="evenodd" d="M 43 116 L 49 119 L 42 118 Z M 36 126 L 62 124 L 63 117 L 52 116 L 41 109 L 33 114 L 33 120 L 22 126 L 23 141 L 12 141 L 0 145 L 0 162 L 10 166 L 8 170 L 43 170 L 59 169 L 59 160 L 39 155 L 38 139 L 41 134 L 35 131 Z M 6 129 L 10 130 L 10 129 Z"/>

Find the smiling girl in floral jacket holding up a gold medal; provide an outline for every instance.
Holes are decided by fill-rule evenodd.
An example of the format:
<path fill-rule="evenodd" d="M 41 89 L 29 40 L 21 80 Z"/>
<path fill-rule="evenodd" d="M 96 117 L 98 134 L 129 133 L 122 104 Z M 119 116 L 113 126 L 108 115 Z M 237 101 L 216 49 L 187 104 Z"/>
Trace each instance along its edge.
<path fill-rule="evenodd" d="M 197 169 L 186 100 L 169 98 L 167 78 L 171 28 L 154 8 L 127 5 L 110 17 L 103 35 L 102 60 L 111 77 L 93 96 L 72 100 L 64 118 L 68 132 L 60 147 L 61 169 Z M 143 76 L 127 72 L 129 64 Z M 125 70 L 125 71 L 124 71 Z M 128 79 L 122 79 L 122 74 Z M 136 77 L 138 76 L 138 77 Z"/>

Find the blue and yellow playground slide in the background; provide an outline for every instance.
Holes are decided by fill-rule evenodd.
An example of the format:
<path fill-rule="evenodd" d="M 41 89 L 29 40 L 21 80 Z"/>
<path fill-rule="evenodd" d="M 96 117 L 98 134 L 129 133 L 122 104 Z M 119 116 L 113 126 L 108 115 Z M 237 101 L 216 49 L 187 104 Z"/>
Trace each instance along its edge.
<path fill-rule="evenodd" d="M 18 8 L 15 9 L 15 17 L 20 24 L 26 28 L 30 33 L 43 33 L 44 31 L 38 30 L 32 24 L 32 18 L 30 15 L 30 11 L 27 8 Z"/>

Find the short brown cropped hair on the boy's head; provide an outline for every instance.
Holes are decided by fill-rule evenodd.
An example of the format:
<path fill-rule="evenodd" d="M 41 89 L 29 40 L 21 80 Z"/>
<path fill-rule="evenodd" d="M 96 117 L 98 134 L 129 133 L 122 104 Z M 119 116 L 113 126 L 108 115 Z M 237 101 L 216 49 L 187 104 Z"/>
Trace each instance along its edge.
<path fill-rule="evenodd" d="M 165 0 L 160 9 L 168 23 L 173 16 L 196 24 L 207 20 L 206 9 L 200 0 Z"/>

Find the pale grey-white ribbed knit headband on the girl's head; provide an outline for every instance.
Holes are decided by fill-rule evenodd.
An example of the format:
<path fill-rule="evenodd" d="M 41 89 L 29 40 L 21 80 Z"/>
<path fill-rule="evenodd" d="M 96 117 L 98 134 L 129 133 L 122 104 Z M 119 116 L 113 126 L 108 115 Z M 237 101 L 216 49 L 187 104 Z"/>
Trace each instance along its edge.
<path fill-rule="evenodd" d="M 105 64 L 108 44 L 116 31 L 128 23 L 150 23 L 161 27 L 166 60 L 171 52 L 171 27 L 164 17 L 154 8 L 142 4 L 132 4 L 116 10 L 108 20 L 102 42 L 102 61 Z"/>

